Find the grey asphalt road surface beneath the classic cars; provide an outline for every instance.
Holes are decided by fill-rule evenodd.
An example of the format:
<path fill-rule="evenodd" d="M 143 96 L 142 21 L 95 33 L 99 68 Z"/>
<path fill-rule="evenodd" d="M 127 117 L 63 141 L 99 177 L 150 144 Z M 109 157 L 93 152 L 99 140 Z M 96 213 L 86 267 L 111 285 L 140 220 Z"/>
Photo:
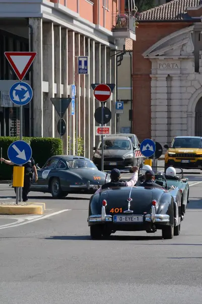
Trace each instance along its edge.
<path fill-rule="evenodd" d="M 187 176 L 189 209 L 172 240 L 118 232 L 91 241 L 89 196 L 30 193 L 31 201 L 46 203 L 44 216 L 0 216 L 1 303 L 201 304 L 202 176 Z M 0 191 L 14 196 L 8 185 Z"/>

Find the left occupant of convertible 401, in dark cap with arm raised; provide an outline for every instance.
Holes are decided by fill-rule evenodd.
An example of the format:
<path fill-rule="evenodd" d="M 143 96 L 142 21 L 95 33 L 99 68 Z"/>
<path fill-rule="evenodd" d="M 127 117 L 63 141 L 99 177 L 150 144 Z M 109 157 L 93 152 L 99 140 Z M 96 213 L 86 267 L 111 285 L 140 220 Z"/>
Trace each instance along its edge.
<path fill-rule="evenodd" d="M 133 187 L 138 179 L 138 167 L 132 167 L 133 176 L 129 181 L 121 181 L 121 172 L 118 169 L 113 169 L 110 173 L 111 181 L 107 182 L 106 184 L 102 185 L 95 194 L 99 193 L 103 189 L 110 188 L 110 187 Z"/>

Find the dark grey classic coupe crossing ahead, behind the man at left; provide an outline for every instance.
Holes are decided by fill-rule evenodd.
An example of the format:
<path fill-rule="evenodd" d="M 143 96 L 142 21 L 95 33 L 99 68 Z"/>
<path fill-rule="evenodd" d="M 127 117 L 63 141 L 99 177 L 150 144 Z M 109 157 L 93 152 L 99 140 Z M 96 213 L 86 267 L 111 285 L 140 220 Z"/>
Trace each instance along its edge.
<path fill-rule="evenodd" d="M 106 172 L 80 156 L 52 156 L 37 172 L 38 180 L 33 179 L 30 191 L 51 193 L 54 198 L 64 198 L 69 193 L 93 194 L 110 181 Z"/>

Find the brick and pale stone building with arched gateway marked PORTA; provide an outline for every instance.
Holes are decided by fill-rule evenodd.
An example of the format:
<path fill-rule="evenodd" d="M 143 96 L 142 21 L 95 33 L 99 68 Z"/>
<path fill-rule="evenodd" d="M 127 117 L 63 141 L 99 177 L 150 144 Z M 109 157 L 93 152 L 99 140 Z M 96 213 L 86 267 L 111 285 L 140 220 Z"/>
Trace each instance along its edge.
<path fill-rule="evenodd" d="M 133 132 L 162 145 L 202 136 L 202 4 L 175 0 L 138 16 Z"/>

